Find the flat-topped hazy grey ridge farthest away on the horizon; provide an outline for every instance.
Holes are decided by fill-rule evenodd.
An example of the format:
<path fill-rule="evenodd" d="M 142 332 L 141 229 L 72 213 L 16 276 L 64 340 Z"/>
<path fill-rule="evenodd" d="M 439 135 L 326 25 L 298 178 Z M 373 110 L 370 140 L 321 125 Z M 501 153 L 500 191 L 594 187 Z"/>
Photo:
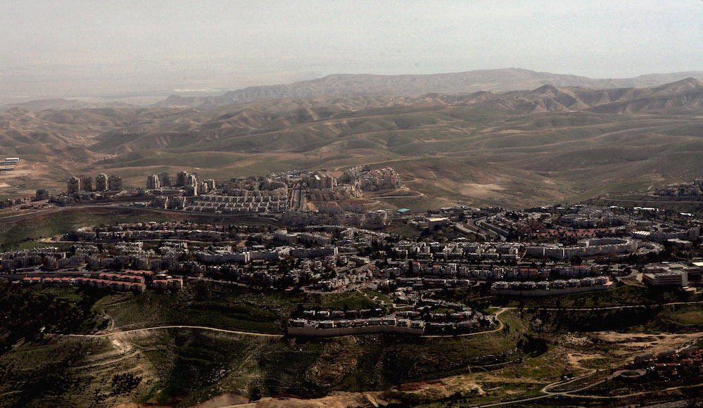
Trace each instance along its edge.
<path fill-rule="evenodd" d="M 647 88 L 687 77 L 703 79 L 703 71 L 642 75 L 624 79 L 592 79 L 518 68 L 432 75 L 327 75 L 319 79 L 228 91 L 219 96 L 172 95 L 160 107 L 209 109 L 234 103 L 314 96 L 419 96 L 428 93 L 467 94 L 477 91 L 520 91 L 543 85 L 588 89 Z"/>

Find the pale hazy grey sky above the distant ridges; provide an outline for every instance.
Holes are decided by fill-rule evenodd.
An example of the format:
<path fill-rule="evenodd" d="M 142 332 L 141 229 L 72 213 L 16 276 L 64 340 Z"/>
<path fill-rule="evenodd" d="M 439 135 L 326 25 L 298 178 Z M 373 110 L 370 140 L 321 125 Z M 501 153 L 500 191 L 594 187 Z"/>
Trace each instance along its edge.
<path fill-rule="evenodd" d="M 703 70 L 703 1 L 2 1 L 0 98 L 331 73 Z"/>

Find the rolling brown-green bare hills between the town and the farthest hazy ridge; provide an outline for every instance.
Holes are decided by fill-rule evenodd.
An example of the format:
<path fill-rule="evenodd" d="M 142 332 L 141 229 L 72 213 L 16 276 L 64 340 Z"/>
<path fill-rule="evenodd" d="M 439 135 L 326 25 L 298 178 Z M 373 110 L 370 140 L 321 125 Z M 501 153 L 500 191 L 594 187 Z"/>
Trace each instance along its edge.
<path fill-rule="evenodd" d="M 578 200 L 701 176 L 702 98 L 702 83 L 687 78 L 650 88 L 319 96 L 209 110 L 15 108 L 0 113 L 0 146 L 31 171 L 3 176 L 0 186 L 65 189 L 76 172 L 118 173 L 141 186 L 160 171 L 227 179 L 377 163 L 395 166 L 423 194 L 381 206 Z"/>

